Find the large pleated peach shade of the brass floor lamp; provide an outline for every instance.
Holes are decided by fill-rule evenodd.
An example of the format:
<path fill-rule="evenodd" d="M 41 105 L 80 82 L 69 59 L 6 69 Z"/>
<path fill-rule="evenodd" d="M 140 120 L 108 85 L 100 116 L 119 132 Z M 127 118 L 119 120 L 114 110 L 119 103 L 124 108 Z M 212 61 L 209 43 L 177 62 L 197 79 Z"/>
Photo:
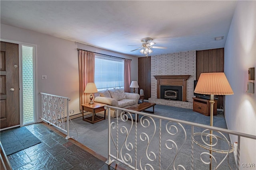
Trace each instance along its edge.
<path fill-rule="evenodd" d="M 194 92 L 214 95 L 234 94 L 224 72 L 201 73 Z"/>

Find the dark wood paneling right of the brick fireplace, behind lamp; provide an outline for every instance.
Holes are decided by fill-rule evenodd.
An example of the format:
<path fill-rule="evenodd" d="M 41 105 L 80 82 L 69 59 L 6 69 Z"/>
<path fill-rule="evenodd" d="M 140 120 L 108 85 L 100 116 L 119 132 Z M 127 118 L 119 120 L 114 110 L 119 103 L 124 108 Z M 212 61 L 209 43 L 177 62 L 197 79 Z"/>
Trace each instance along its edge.
<path fill-rule="evenodd" d="M 196 51 L 196 80 L 204 72 L 224 72 L 224 48 Z M 218 96 L 217 108 L 223 104 L 224 96 Z"/>

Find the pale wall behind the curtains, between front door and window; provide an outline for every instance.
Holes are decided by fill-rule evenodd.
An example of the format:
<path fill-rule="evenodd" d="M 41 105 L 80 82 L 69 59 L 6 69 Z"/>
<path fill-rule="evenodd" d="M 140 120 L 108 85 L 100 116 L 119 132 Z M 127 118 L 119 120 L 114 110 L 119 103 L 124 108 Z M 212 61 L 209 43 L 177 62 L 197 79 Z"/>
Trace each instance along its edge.
<path fill-rule="evenodd" d="M 77 48 L 132 59 L 131 80 L 138 80 L 138 58 L 83 45 L 50 35 L 1 24 L 1 39 L 37 45 L 37 113 L 41 113 L 40 92 L 65 96 L 71 99 L 69 109 L 79 109 L 79 74 Z M 47 75 L 47 80 L 42 80 Z"/>

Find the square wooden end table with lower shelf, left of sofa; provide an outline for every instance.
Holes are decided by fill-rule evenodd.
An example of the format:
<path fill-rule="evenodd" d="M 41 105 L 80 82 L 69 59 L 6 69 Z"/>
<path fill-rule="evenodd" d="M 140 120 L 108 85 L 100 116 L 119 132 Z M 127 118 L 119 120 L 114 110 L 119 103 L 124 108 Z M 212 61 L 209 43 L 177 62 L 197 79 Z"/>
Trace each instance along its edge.
<path fill-rule="evenodd" d="M 106 104 L 97 103 L 97 102 L 94 102 L 94 104 L 82 104 L 83 121 L 87 121 L 89 123 L 94 124 L 98 121 L 106 119 L 106 110 L 104 109 L 104 106 L 106 106 Z M 96 113 L 103 111 L 103 110 L 104 110 L 104 117 L 100 117 L 100 116 L 96 115 Z M 92 116 L 84 118 L 84 111 L 92 112 Z"/>

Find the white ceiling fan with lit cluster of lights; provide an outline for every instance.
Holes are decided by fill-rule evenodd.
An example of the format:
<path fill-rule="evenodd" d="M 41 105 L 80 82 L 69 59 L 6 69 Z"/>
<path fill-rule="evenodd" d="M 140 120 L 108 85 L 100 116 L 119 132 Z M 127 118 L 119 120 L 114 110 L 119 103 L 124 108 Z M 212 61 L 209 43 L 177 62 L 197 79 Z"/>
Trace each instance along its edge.
<path fill-rule="evenodd" d="M 140 42 L 142 42 L 141 46 L 138 46 L 138 45 L 128 45 L 128 46 L 140 47 L 140 48 L 134 49 L 132 51 L 136 51 L 136 50 L 141 49 L 140 53 L 142 53 L 142 54 L 144 54 L 146 56 L 148 56 L 148 53 L 150 54 L 150 53 L 153 52 L 152 49 L 166 49 L 166 47 L 153 46 L 156 43 L 152 42 L 152 40 L 153 40 L 152 38 L 142 38 L 140 40 Z"/>

